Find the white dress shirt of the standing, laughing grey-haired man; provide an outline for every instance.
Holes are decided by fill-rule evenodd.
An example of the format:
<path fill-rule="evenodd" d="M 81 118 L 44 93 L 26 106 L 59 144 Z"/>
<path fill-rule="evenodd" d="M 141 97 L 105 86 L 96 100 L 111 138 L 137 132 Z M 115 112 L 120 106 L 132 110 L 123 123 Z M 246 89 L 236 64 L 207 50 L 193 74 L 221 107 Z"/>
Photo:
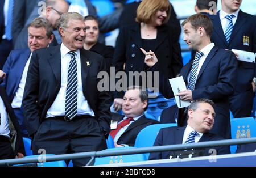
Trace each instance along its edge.
<path fill-rule="evenodd" d="M 68 54 L 70 50 L 62 43 L 60 45 L 61 55 L 61 85 L 60 91 L 51 107 L 48 109 L 46 117 L 65 116 L 65 100 L 66 90 L 68 84 L 68 66 L 71 61 L 71 55 Z M 81 60 L 80 51 L 75 51 L 76 63 L 77 63 L 77 115 L 90 115 L 95 116 L 94 112 L 90 108 L 88 101 L 86 100 L 82 92 L 82 75 L 81 75 Z"/>

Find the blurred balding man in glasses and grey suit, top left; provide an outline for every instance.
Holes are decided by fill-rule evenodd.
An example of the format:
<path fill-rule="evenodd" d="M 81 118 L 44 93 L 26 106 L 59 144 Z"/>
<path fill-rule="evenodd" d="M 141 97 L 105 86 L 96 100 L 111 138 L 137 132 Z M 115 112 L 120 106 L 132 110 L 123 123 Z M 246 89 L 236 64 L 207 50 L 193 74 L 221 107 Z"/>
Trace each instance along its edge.
<path fill-rule="evenodd" d="M 60 15 L 63 14 L 64 12 L 68 11 L 68 3 L 65 0 L 46 0 L 46 8 L 45 11 L 39 13 L 39 9 L 42 9 L 44 6 L 39 6 L 35 8 L 35 11 L 33 10 L 33 18 L 28 18 L 25 26 L 23 29 L 19 32 L 18 37 L 16 38 L 15 44 L 14 44 L 14 49 L 25 49 L 27 48 L 27 28 L 28 24 L 32 22 L 35 18 L 38 17 L 43 17 L 49 20 L 51 22 L 52 26 L 54 29 L 56 29 L 57 25 L 57 20 L 60 18 Z M 31 14 L 32 15 L 32 14 Z M 53 39 L 52 43 L 50 46 L 56 46 L 58 45 L 56 37 Z"/>

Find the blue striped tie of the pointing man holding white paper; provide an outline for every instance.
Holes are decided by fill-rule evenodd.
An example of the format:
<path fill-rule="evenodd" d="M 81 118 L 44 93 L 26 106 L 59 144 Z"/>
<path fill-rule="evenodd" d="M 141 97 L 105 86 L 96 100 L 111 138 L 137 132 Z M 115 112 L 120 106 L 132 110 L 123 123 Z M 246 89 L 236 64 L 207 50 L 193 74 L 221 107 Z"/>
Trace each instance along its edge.
<path fill-rule="evenodd" d="M 189 74 L 188 90 L 194 90 L 196 84 L 196 74 L 200 58 L 204 55 L 203 52 L 196 52 L 195 60 L 193 61 L 191 71 Z"/>

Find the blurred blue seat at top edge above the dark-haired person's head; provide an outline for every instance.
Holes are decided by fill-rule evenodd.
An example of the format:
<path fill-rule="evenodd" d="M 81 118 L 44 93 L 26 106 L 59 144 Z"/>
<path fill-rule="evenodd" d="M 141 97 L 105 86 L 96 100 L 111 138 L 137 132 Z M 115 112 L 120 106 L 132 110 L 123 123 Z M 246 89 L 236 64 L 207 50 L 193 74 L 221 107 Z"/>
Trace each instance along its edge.
<path fill-rule="evenodd" d="M 97 14 L 100 17 L 114 11 L 114 4 L 110 0 L 91 0 L 90 2 L 96 7 Z"/>

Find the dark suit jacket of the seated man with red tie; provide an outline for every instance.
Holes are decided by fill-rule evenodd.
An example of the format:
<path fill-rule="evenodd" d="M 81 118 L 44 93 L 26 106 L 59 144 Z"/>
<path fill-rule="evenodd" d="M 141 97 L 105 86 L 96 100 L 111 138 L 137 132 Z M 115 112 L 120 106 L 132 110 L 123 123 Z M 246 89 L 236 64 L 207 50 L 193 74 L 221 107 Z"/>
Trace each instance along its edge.
<path fill-rule="evenodd" d="M 122 115 L 118 115 L 115 113 L 112 113 L 112 120 L 113 121 L 121 121 L 123 119 Z M 140 117 L 137 121 L 134 121 L 129 125 L 129 127 L 125 130 L 125 132 L 119 137 L 117 144 L 126 144 L 129 146 L 134 146 L 135 140 L 139 132 L 143 129 L 146 128 L 148 125 L 153 125 L 153 124 L 159 124 L 158 121 L 152 120 L 149 118 L 146 118 L 144 115 Z"/>

